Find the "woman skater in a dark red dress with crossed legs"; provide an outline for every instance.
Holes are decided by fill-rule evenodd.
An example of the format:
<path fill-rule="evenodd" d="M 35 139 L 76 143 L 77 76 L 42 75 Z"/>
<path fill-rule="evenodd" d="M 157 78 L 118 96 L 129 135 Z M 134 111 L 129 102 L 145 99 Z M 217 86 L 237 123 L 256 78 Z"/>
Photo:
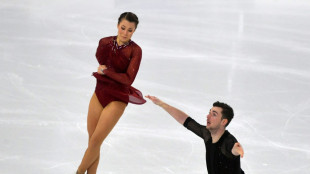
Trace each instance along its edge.
<path fill-rule="evenodd" d="M 131 86 L 141 62 L 142 50 L 131 40 L 138 17 L 125 12 L 118 19 L 117 36 L 102 38 L 96 52 L 99 63 L 95 93 L 88 109 L 88 147 L 77 174 L 97 171 L 100 146 L 122 116 L 128 102 L 143 104 L 141 92 Z"/>

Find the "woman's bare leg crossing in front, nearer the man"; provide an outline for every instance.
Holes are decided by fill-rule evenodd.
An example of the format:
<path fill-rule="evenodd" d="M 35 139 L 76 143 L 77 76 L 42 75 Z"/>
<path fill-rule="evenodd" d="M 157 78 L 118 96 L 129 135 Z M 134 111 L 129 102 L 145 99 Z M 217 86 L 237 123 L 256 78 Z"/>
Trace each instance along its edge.
<path fill-rule="evenodd" d="M 126 106 L 127 104 L 123 102 L 113 101 L 103 108 L 97 126 L 90 137 L 82 163 L 79 166 L 78 171 L 80 173 L 85 173 L 86 170 L 88 170 L 89 174 L 90 172 L 96 172 L 96 169 L 91 169 L 90 167 L 94 165 L 94 167 L 97 168 L 100 146 L 122 116 Z M 92 123 L 89 125 L 92 125 Z M 92 128 L 92 126 L 90 126 L 90 128 Z"/>

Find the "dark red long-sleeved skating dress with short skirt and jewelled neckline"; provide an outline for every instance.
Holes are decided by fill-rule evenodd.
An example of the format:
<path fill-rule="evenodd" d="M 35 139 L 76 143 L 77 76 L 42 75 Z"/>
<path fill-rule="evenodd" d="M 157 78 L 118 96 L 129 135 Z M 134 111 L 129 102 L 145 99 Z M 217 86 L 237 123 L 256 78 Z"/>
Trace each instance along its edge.
<path fill-rule="evenodd" d="M 104 75 L 94 72 L 97 78 L 95 93 L 102 107 L 112 101 L 143 104 L 142 93 L 131 86 L 138 73 L 142 50 L 133 41 L 118 46 L 116 36 L 102 38 L 96 52 L 100 65 L 106 65 Z"/>

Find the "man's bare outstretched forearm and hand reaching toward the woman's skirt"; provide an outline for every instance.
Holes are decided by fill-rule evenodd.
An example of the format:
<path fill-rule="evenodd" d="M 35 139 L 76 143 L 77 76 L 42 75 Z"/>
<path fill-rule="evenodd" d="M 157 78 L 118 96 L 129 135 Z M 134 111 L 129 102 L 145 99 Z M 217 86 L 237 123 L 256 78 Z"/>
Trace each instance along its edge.
<path fill-rule="evenodd" d="M 188 118 L 188 115 L 185 114 L 183 111 L 168 105 L 167 103 L 161 101 L 155 96 L 147 95 L 146 98 L 150 99 L 154 104 L 162 107 L 165 111 L 167 111 L 176 121 L 180 124 L 184 124 L 185 120 Z"/>

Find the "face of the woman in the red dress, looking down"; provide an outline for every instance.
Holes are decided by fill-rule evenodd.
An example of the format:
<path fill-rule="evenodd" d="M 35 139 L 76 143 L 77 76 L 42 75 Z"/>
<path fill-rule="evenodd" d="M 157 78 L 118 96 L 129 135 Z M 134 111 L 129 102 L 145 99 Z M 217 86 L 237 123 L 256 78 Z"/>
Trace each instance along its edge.
<path fill-rule="evenodd" d="M 117 40 L 119 45 L 123 45 L 131 39 L 131 36 L 136 30 L 136 24 L 134 22 L 129 22 L 126 19 L 122 19 L 119 24 L 117 24 Z"/>

